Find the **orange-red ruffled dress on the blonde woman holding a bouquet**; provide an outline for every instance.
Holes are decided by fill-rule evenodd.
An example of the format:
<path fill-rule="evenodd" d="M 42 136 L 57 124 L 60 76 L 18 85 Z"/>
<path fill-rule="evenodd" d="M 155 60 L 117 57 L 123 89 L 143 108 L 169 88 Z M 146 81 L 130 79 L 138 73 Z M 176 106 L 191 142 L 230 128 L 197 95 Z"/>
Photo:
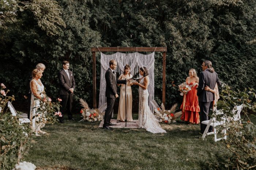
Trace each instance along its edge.
<path fill-rule="evenodd" d="M 187 81 L 186 83 L 188 84 Z M 189 83 L 188 85 L 192 85 L 193 83 L 195 83 L 195 81 Z M 188 93 L 183 96 L 183 102 L 180 106 L 182 110 L 182 115 L 180 119 L 190 123 L 198 124 L 200 123 L 199 113 L 198 113 L 200 112 L 200 108 L 198 103 L 198 97 L 196 95 L 196 92 L 197 92 L 196 87 L 197 86 L 191 87 L 191 90 L 188 91 Z"/>

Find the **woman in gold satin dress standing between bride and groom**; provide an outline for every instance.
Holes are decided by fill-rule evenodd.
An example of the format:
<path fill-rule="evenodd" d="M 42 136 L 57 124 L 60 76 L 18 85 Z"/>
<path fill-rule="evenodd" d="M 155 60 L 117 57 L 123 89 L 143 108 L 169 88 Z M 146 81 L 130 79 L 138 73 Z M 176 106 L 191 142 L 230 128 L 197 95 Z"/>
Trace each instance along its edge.
<path fill-rule="evenodd" d="M 130 74 L 131 67 L 126 64 L 124 67 L 124 74 L 121 74 L 119 76 L 119 80 L 125 80 L 125 79 L 131 79 L 132 75 Z M 118 84 L 120 85 L 120 84 Z M 126 84 L 126 112 L 127 112 L 127 121 L 132 121 L 132 83 L 127 82 Z M 120 89 L 120 100 L 119 100 L 119 107 L 118 107 L 118 114 L 117 114 L 117 120 L 120 120 L 122 122 L 125 121 L 125 84 L 121 84 Z"/>

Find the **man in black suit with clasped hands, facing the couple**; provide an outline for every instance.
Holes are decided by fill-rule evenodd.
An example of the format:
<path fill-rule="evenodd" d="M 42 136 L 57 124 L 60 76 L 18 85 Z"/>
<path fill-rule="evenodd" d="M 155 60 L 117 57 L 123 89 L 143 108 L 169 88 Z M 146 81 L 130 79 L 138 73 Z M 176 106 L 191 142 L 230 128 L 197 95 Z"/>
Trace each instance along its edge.
<path fill-rule="evenodd" d="M 64 115 L 66 114 L 66 112 L 68 114 L 68 119 L 74 120 L 71 110 L 75 89 L 75 78 L 73 72 L 68 70 L 69 62 L 63 61 L 62 65 L 63 69 L 58 74 L 60 83 L 60 98 L 62 99 L 60 103 L 62 106 L 60 108 L 60 112 L 62 114 L 62 117 L 59 117 L 60 123 L 64 123 Z"/>

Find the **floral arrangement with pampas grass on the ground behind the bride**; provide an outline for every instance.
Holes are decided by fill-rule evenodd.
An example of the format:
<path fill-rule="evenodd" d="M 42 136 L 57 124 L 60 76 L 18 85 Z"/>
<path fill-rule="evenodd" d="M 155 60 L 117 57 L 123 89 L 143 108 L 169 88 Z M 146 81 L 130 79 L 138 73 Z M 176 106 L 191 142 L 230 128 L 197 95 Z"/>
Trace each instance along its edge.
<path fill-rule="evenodd" d="M 172 106 L 172 108 L 170 108 L 170 110 L 166 110 L 165 106 L 163 105 L 163 103 L 161 103 L 161 107 L 158 106 L 157 102 L 155 102 L 155 100 L 153 100 L 153 102 L 151 102 L 153 104 L 154 107 L 154 111 L 155 111 L 155 117 L 157 119 L 159 119 L 159 122 L 162 123 L 175 123 L 176 119 L 178 117 L 181 116 L 182 111 L 179 112 L 175 112 L 176 108 L 178 106 L 178 104 L 174 104 Z"/>

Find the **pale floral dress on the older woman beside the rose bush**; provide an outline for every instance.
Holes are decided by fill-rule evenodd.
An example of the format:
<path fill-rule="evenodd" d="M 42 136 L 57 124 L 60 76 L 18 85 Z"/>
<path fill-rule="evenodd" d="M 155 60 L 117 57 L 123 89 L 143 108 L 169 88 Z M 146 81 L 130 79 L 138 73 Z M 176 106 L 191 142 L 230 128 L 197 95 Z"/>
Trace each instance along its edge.
<path fill-rule="evenodd" d="M 41 97 L 44 97 L 44 85 L 42 84 L 41 80 L 39 79 L 39 82 L 41 83 L 41 85 L 35 81 L 34 79 L 32 80 L 35 82 L 36 86 L 37 86 L 37 92 L 38 94 L 41 95 Z M 31 86 L 30 86 L 31 88 Z M 36 100 L 34 100 L 36 99 Z M 46 119 L 44 118 L 44 114 L 38 114 L 37 112 L 37 108 L 40 107 L 40 100 L 34 96 L 34 94 L 32 93 L 31 95 L 31 105 L 30 105 L 30 121 L 31 121 L 31 124 L 30 124 L 30 127 L 33 131 L 35 131 L 35 133 L 37 133 L 37 131 L 41 130 L 42 127 L 45 126 L 45 122 L 46 122 Z M 33 116 L 37 115 L 34 119 Z M 39 121 L 39 123 L 38 123 Z"/>

